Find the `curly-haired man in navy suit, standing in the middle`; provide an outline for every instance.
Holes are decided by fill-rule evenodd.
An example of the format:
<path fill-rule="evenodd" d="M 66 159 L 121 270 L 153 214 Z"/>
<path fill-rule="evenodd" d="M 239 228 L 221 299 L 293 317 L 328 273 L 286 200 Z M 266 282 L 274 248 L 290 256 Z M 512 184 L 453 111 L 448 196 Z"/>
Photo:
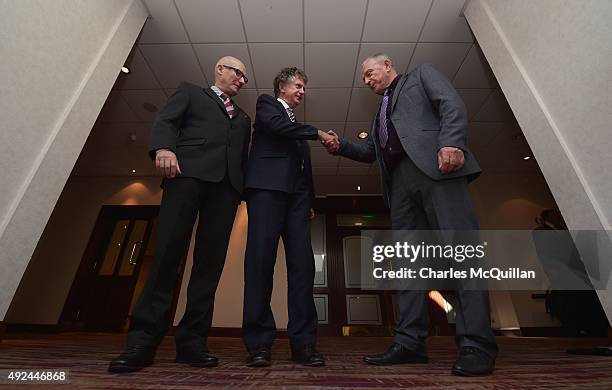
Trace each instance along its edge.
<path fill-rule="evenodd" d="M 308 78 L 298 68 L 285 68 L 274 79 L 275 97 L 257 99 L 253 145 L 245 188 L 249 231 L 244 261 L 243 336 L 247 365 L 271 363 L 276 323 L 270 308 L 276 250 L 282 236 L 288 279 L 292 360 L 322 366 L 315 350 L 317 313 L 313 300 L 314 256 L 310 242 L 312 168 L 306 140 L 331 136 L 298 123 L 293 109 L 304 98 Z"/>

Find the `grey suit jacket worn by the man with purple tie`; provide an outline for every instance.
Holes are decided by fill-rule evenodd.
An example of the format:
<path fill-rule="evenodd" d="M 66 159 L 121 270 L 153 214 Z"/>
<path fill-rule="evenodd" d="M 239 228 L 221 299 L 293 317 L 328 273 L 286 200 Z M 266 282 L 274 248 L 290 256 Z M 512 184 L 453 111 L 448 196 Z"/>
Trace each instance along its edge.
<path fill-rule="evenodd" d="M 433 65 L 419 65 L 401 76 L 393 93 L 390 118 L 406 155 L 432 180 L 463 176 L 473 180 L 481 173 L 467 146 L 465 104 L 450 81 Z M 376 117 L 372 121 L 371 135 L 363 143 L 341 139 L 338 154 L 367 163 L 378 160 L 383 195 L 389 205 L 391 175 L 383 160 Z M 461 169 L 443 175 L 438 169 L 438 150 L 445 146 L 462 149 L 465 164 Z"/>

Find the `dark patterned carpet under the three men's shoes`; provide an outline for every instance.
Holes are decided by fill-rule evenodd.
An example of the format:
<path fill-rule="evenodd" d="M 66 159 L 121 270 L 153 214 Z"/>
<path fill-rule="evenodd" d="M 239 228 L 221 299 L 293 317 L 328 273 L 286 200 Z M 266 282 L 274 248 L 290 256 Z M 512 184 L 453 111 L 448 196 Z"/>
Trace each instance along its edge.
<path fill-rule="evenodd" d="M 416 389 L 612 389 L 612 358 L 572 356 L 568 347 L 603 345 L 606 340 L 500 337 L 495 375 L 459 378 L 450 375 L 456 350 L 450 337 L 429 340 L 430 363 L 390 367 L 366 366 L 364 354 L 381 352 L 391 339 L 382 337 L 325 337 L 319 350 L 323 368 L 306 368 L 288 361 L 287 340 L 277 340 L 273 365 L 267 369 L 244 365 L 240 339 L 211 338 L 209 347 L 221 360 L 212 369 L 174 363 L 174 344 L 166 338 L 155 364 L 132 374 L 108 374 L 109 360 L 124 346 L 125 336 L 102 333 L 55 335 L 8 334 L 0 344 L 0 369 L 66 368 L 70 385 L 12 386 L 17 389 L 192 389 L 267 388 L 416 388 Z M 11 385 L 0 385 L 0 389 Z"/>

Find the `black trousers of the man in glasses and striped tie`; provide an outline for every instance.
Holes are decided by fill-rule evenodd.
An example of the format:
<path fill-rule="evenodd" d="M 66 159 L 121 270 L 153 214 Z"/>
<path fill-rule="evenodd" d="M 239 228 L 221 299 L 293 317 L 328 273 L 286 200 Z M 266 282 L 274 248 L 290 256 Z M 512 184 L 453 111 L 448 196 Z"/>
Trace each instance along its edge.
<path fill-rule="evenodd" d="M 155 257 L 132 313 L 128 345 L 157 346 L 166 334 L 177 269 L 199 213 L 187 307 L 175 341 L 177 348 L 205 347 L 239 203 L 240 195 L 227 176 L 220 183 L 193 178 L 164 182 Z"/>

